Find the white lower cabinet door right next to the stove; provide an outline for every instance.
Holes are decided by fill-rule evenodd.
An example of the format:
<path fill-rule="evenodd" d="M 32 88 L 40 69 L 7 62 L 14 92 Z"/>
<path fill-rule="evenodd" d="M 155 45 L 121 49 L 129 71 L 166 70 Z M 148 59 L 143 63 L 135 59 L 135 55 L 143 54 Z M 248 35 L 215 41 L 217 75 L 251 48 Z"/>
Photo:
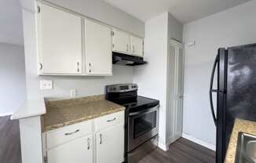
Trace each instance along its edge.
<path fill-rule="evenodd" d="M 97 163 L 121 163 L 124 161 L 123 124 L 97 132 Z"/>

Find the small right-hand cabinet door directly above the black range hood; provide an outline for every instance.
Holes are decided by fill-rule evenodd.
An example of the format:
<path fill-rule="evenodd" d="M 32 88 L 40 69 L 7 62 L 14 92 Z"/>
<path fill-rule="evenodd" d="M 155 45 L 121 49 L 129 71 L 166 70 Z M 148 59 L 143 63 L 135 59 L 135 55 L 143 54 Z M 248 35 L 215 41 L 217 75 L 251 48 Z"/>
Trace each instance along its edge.
<path fill-rule="evenodd" d="M 136 56 L 143 56 L 143 39 L 131 36 L 131 53 Z"/>

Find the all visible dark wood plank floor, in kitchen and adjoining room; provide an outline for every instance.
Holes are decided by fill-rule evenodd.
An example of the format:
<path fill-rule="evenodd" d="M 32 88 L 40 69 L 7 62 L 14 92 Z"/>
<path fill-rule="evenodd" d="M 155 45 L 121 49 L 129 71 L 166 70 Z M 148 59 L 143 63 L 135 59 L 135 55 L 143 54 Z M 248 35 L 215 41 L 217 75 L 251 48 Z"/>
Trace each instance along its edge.
<path fill-rule="evenodd" d="M 21 163 L 19 121 L 0 117 L 0 162 Z M 215 153 L 188 139 L 181 138 L 168 151 L 153 150 L 139 163 L 214 163 Z"/>

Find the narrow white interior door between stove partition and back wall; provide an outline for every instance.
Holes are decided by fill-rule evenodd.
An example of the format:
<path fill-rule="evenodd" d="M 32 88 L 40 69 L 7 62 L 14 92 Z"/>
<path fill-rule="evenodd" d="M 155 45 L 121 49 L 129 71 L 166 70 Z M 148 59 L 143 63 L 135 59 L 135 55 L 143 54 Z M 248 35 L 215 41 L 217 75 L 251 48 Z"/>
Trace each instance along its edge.
<path fill-rule="evenodd" d="M 170 117 L 171 139 L 174 142 L 182 136 L 183 121 L 183 80 L 184 80 L 184 49 L 180 42 L 171 40 L 170 56 L 172 73 L 170 75 Z"/>

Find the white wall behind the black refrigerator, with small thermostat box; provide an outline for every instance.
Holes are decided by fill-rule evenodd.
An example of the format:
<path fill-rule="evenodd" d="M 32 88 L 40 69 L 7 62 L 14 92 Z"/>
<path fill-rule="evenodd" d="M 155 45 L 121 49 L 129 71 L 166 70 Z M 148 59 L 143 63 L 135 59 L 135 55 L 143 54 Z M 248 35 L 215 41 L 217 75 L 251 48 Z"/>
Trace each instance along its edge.
<path fill-rule="evenodd" d="M 256 42 L 256 1 L 185 24 L 185 99 L 183 132 L 215 145 L 210 114 L 210 71 L 219 47 Z"/>

